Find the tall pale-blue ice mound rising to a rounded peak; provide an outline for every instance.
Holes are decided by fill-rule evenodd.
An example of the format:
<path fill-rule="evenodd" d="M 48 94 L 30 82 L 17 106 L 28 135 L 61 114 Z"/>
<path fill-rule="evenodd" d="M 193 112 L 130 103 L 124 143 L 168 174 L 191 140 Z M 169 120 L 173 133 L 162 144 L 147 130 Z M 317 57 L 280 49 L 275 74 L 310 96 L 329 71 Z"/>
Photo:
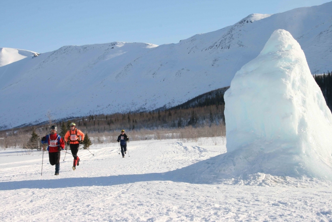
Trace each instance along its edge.
<path fill-rule="evenodd" d="M 224 98 L 221 173 L 332 178 L 332 114 L 289 32 L 271 35 Z"/>

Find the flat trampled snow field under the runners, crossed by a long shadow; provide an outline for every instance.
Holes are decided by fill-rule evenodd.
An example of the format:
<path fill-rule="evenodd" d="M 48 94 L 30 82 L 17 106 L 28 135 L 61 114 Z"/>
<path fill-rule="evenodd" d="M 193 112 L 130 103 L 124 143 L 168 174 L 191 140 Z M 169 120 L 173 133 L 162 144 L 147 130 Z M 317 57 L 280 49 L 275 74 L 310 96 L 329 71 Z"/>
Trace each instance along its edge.
<path fill-rule="evenodd" d="M 59 176 L 48 154 L 41 176 L 41 151 L 1 149 L 0 221 L 332 221 L 330 182 L 197 182 L 202 163 L 226 152 L 203 144 L 130 142 L 125 158 L 117 143 L 80 149 L 75 171 L 62 152 Z"/>

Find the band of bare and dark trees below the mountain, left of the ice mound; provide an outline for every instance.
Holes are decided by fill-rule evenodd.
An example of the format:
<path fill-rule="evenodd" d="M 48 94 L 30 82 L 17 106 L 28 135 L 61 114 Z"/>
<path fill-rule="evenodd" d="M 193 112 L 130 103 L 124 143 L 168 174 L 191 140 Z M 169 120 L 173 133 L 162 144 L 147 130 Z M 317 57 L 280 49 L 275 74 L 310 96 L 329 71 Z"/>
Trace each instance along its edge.
<path fill-rule="evenodd" d="M 58 134 L 64 137 L 71 122 L 74 122 L 84 134 L 92 136 L 100 133 L 118 132 L 122 129 L 139 131 L 224 126 L 223 93 L 227 88 L 204 93 L 175 107 L 168 109 L 162 107 L 149 112 L 89 115 L 57 121 L 53 121 L 47 115 L 50 118 L 48 123 L 0 131 L 2 139 L 0 147 L 38 148 L 39 146 L 41 148 L 38 141 L 42 136 L 50 133 L 52 125 L 57 126 Z"/>

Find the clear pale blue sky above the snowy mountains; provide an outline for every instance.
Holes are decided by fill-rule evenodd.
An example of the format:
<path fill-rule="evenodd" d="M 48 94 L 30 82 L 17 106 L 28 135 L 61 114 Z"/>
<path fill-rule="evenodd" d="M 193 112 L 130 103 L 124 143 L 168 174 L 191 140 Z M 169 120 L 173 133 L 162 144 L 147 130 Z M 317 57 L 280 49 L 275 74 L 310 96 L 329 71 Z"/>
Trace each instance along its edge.
<path fill-rule="evenodd" d="M 251 13 L 274 14 L 331 0 L 1 0 L 0 47 L 39 53 L 65 45 L 178 43 Z"/>

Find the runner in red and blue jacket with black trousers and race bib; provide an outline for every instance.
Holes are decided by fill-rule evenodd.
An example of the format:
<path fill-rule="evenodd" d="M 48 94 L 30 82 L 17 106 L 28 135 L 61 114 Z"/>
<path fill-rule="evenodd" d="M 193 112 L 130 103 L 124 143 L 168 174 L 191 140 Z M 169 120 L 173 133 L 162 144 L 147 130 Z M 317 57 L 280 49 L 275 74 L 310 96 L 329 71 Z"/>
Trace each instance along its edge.
<path fill-rule="evenodd" d="M 55 165 L 55 175 L 59 175 L 60 170 L 60 151 L 64 149 L 64 141 L 58 135 L 56 126 L 51 127 L 51 134 L 42 138 L 42 144 L 48 144 L 50 164 Z"/>

